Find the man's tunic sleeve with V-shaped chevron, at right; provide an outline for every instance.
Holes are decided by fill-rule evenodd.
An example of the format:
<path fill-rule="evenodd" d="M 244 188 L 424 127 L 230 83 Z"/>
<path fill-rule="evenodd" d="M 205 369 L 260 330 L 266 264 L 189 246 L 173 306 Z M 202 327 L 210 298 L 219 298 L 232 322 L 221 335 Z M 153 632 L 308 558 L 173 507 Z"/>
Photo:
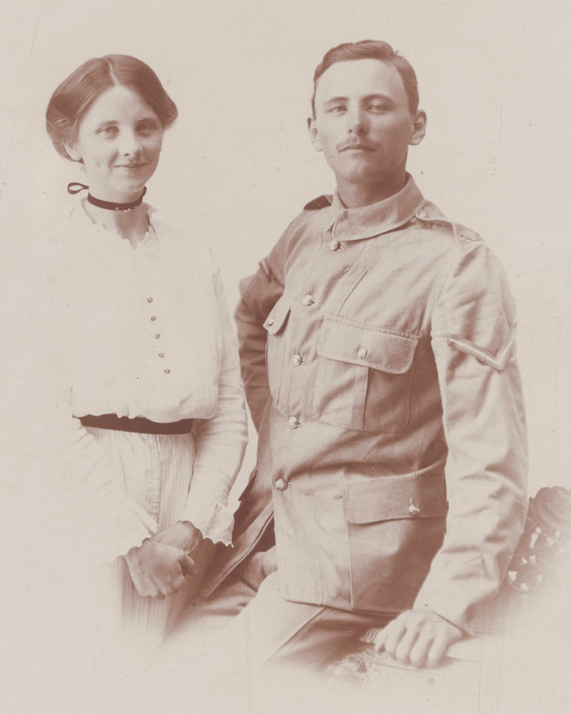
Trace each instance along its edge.
<path fill-rule="evenodd" d="M 460 253 L 433 312 L 448 443 L 447 533 L 415 608 L 470 632 L 500 587 L 527 511 L 527 443 L 515 314 L 483 243 Z"/>

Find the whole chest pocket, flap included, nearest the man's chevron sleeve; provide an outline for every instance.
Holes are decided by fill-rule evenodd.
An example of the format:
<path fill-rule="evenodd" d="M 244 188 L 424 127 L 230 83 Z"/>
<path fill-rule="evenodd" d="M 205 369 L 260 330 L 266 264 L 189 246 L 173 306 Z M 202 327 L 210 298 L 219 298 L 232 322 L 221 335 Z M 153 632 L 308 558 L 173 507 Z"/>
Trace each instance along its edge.
<path fill-rule="evenodd" d="M 402 431 L 418 339 L 325 315 L 317 348 L 317 418 L 357 431 Z"/>

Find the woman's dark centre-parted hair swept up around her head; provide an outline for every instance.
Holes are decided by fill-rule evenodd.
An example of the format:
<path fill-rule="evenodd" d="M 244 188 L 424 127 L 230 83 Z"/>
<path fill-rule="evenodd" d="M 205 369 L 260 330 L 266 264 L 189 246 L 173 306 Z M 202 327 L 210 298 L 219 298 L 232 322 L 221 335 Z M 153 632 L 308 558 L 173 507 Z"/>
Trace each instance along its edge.
<path fill-rule="evenodd" d="M 176 119 L 176 106 L 156 74 L 140 59 L 126 54 L 108 54 L 88 59 L 59 85 L 46 111 L 46 129 L 56 151 L 71 159 L 65 144 L 73 146 L 81 119 L 91 104 L 113 86 L 136 92 L 168 129 Z"/>

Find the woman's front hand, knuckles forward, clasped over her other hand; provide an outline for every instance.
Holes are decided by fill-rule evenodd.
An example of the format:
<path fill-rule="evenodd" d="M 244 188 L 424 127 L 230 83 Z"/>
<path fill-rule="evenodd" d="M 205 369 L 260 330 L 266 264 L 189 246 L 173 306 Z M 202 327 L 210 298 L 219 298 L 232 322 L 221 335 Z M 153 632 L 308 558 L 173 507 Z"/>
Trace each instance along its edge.
<path fill-rule="evenodd" d="M 164 600 L 176 590 L 186 588 L 185 575 L 196 575 L 193 560 L 182 549 L 166 543 L 143 540 L 123 557 L 133 585 L 143 598 Z"/>

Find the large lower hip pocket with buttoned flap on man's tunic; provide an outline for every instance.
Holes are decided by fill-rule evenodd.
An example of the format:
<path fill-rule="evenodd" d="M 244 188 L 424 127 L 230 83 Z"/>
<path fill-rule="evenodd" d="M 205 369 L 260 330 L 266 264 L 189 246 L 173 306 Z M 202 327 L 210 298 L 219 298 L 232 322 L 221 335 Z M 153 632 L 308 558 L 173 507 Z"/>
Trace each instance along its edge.
<path fill-rule="evenodd" d="M 446 527 L 444 465 L 343 488 L 350 548 L 351 606 L 412 608 Z"/>

